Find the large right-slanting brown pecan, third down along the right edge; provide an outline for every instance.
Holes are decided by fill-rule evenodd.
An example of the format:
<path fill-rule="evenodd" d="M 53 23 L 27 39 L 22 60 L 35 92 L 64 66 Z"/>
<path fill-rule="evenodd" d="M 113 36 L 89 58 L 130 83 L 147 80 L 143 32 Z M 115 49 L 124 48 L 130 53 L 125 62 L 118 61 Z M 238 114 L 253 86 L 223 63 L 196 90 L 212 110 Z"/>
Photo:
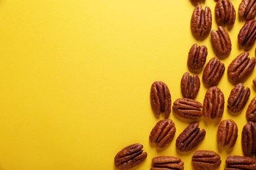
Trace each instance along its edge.
<path fill-rule="evenodd" d="M 250 59 L 248 56 L 249 52 L 243 52 L 228 65 L 228 78 L 234 84 L 243 82 L 252 73 L 256 61 L 255 58 Z"/>

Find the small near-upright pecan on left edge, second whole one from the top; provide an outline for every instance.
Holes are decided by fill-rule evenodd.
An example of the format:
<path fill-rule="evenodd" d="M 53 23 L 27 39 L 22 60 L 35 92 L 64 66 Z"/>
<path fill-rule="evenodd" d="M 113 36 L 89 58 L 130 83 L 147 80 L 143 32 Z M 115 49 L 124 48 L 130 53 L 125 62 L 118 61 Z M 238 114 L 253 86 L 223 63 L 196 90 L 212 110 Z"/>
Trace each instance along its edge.
<path fill-rule="evenodd" d="M 193 44 L 188 52 L 188 68 L 191 70 L 202 69 L 207 57 L 207 47 Z"/>

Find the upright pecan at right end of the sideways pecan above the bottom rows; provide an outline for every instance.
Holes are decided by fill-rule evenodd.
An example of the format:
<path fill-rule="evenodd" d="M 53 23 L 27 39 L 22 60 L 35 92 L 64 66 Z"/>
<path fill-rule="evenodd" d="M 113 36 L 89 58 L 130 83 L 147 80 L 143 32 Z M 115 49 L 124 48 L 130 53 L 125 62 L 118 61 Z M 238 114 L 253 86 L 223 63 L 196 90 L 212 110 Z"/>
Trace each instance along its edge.
<path fill-rule="evenodd" d="M 207 90 L 203 100 L 203 116 L 221 118 L 224 110 L 224 94 L 221 89 L 213 86 Z"/>

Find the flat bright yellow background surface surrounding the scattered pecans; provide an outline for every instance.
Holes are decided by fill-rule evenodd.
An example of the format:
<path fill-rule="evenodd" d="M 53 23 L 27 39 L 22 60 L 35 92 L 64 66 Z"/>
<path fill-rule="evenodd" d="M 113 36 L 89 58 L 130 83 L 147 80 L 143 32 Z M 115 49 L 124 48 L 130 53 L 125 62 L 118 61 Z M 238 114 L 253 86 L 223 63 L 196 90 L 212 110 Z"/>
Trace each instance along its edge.
<path fill-rule="evenodd" d="M 240 1 L 232 1 L 236 22 L 228 31 L 232 52 L 238 54 L 237 35 L 244 21 L 238 18 Z M 217 29 L 215 1 L 205 1 Z M 150 107 L 150 86 L 162 80 L 172 103 L 182 97 L 180 81 L 188 71 L 192 44 L 205 44 L 207 61 L 215 56 L 210 36 L 197 41 L 190 32 L 194 5 L 188 0 L 1 0 L 0 1 L 0 169 L 80 170 L 115 169 L 114 156 L 123 147 L 141 143 L 148 158 L 134 169 L 150 169 L 155 156 L 178 156 L 192 169 L 195 150 L 214 150 L 221 167 L 229 155 L 242 155 L 241 132 L 245 111 L 255 96 L 252 80 L 249 101 L 238 116 L 227 110 L 234 87 L 224 73 L 222 120 L 238 124 L 232 150 L 217 147 L 218 121 L 201 118 L 207 133 L 191 152 L 177 152 L 175 140 L 189 122 L 171 112 L 175 139 L 159 150 L 148 136 L 156 122 Z M 255 56 L 255 44 L 249 50 Z M 199 73 L 202 78 L 202 72 Z M 201 81 L 202 82 L 202 81 Z M 201 84 L 196 100 L 203 103 L 207 88 Z"/>

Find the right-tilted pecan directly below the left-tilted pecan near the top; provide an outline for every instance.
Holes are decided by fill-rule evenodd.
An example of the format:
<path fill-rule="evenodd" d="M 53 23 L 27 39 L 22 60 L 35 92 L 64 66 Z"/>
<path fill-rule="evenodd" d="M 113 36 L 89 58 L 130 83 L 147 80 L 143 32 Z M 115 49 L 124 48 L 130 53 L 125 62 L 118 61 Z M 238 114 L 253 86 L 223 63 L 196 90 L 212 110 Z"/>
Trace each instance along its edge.
<path fill-rule="evenodd" d="M 221 63 L 217 57 L 210 59 L 203 70 L 203 82 L 207 86 L 217 86 L 224 71 L 224 63 Z"/>

